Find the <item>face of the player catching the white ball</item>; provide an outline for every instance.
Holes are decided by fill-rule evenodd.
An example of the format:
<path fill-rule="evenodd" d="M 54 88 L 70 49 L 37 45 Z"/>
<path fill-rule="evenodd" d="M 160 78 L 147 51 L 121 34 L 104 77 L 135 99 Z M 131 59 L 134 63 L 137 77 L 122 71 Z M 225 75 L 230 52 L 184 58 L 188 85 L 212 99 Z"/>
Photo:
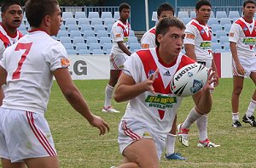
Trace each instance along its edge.
<path fill-rule="evenodd" d="M 158 35 L 158 42 L 160 42 L 160 50 L 166 55 L 177 57 L 183 48 L 183 39 L 185 37 L 184 30 L 177 28 L 176 26 L 169 27 L 166 34 Z"/>

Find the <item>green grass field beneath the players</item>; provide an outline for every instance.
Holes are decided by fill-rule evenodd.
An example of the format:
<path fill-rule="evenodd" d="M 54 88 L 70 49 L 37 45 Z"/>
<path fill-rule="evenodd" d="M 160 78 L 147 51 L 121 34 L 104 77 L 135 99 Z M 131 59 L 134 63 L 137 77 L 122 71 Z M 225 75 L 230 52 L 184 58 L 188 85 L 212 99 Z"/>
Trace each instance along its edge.
<path fill-rule="evenodd" d="M 104 101 L 104 89 L 108 81 L 75 81 L 84 98 L 90 104 L 94 114 L 102 116 L 110 125 L 110 132 L 98 136 L 99 132 L 91 127 L 81 115 L 76 113 L 61 95 L 56 83 L 51 92 L 46 118 L 49 121 L 55 139 L 55 148 L 63 168 L 108 168 L 119 165 L 122 157 L 117 143 L 118 124 L 126 103 L 113 102 L 119 114 L 101 112 Z M 255 86 L 245 80 L 240 100 L 240 119 L 247 110 L 247 105 Z M 209 115 L 208 137 L 221 145 L 220 148 L 197 148 L 198 132 L 195 125 L 190 129 L 189 147 L 176 142 L 176 151 L 189 160 L 174 161 L 162 158 L 160 167 L 256 167 L 254 146 L 256 128 L 243 124 L 242 128 L 231 127 L 230 96 L 232 80 L 221 79 L 214 92 L 213 108 Z M 184 98 L 178 111 L 178 123 L 182 122 L 194 106 L 192 98 Z M 150 159 L 148 159 L 150 160 Z M 1 167 L 1 165 L 0 165 Z"/>

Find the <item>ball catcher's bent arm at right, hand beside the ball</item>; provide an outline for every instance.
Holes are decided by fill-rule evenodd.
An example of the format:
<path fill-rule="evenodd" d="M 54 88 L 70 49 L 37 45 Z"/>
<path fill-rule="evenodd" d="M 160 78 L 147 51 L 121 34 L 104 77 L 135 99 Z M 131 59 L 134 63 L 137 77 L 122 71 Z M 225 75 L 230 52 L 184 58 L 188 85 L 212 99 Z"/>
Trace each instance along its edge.
<path fill-rule="evenodd" d="M 212 90 L 214 87 L 212 87 L 211 84 L 216 81 L 213 77 L 215 72 L 212 71 L 212 68 L 209 69 L 208 73 L 210 74 L 207 79 L 207 84 L 201 89 L 201 91 L 192 96 L 195 102 L 196 111 L 202 111 L 204 114 L 209 113 L 212 109 Z"/>

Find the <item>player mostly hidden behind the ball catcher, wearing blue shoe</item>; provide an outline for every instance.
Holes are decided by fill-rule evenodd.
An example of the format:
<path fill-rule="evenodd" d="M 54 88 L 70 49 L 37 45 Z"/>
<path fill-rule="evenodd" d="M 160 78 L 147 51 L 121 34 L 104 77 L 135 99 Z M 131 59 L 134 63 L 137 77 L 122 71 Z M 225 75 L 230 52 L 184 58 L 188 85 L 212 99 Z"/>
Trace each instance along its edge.
<path fill-rule="evenodd" d="M 166 17 L 173 17 L 174 9 L 169 3 L 162 3 L 157 8 L 157 19 L 160 21 Z M 141 39 L 142 48 L 155 48 L 155 26 L 145 32 Z M 173 120 L 173 126 L 171 132 L 167 134 L 166 139 L 166 159 L 168 160 L 185 160 L 181 154 L 174 152 L 177 130 L 177 117 Z"/>

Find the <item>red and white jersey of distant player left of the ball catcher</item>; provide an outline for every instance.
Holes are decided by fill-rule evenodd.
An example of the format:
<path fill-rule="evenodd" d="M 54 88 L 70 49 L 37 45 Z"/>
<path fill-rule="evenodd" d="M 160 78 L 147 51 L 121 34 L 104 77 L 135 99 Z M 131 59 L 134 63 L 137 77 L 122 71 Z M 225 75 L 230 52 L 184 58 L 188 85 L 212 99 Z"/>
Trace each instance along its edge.
<path fill-rule="evenodd" d="M 124 53 L 120 48 L 117 42 L 123 42 L 125 47 L 128 48 L 128 39 L 130 32 L 130 24 L 126 22 L 124 24 L 122 21 L 117 20 L 112 26 L 112 42 L 113 47 L 111 49 L 111 53 L 119 54 Z"/>

